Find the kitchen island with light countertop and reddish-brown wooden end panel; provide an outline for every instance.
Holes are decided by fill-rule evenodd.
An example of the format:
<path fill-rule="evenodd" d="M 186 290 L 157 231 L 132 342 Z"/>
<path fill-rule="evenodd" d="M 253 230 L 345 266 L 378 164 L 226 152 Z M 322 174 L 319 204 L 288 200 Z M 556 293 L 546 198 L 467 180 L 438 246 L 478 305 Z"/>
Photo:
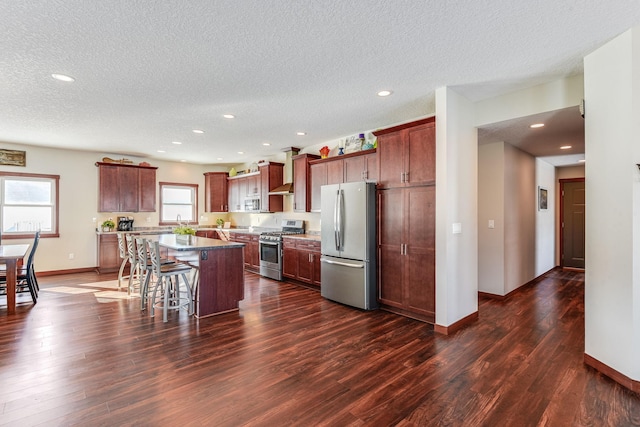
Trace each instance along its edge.
<path fill-rule="evenodd" d="M 207 317 L 238 309 L 244 299 L 244 255 L 242 243 L 190 236 L 181 242 L 175 234 L 145 236 L 157 240 L 169 257 L 191 256 L 199 264 L 195 296 L 196 317 Z"/>

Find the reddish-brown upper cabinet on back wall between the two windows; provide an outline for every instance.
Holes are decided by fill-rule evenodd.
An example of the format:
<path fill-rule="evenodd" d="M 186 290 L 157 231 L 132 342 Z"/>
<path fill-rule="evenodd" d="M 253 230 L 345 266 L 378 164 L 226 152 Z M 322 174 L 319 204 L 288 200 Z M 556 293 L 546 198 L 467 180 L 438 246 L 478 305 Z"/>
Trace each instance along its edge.
<path fill-rule="evenodd" d="M 155 212 L 156 167 L 96 163 L 98 212 Z"/>

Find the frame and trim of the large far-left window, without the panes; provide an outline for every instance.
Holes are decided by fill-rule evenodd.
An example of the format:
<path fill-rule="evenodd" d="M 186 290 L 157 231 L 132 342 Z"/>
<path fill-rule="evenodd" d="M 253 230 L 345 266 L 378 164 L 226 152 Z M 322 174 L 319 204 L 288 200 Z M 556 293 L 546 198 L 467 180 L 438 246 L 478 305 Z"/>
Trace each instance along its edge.
<path fill-rule="evenodd" d="M 60 217 L 60 203 L 59 203 L 59 194 L 60 194 L 60 175 L 42 175 L 42 174 L 31 174 L 31 173 L 12 173 L 12 172 L 0 172 L 0 231 L 2 232 L 2 239 L 24 239 L 33 237 L 37 230 L 29 230 L 29 231 L 5 231 L 3 230 L 4 224 L 4 209 L 5 206 L 43 206 L 42 204 L 34 204 L 30 205 L 28 203 L 14 205 L 5 203 L 5 181 L 42 181 L 51 184 L 51 191 L 53 194 L 51 195 L 51 230 L 50 231 L 42 231 L 40 233 L 40 237 L 59 237 L 59 217 Z"/>

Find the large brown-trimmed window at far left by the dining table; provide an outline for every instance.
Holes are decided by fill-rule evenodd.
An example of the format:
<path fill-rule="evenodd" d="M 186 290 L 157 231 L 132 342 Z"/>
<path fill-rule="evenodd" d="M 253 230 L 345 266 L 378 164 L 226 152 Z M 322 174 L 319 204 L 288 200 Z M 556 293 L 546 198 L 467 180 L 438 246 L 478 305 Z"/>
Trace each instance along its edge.
<path fill-rule="evenodd" d="M 0 226 L 3 238 L 58 234 L 59 175 L 0 172 Z"/>

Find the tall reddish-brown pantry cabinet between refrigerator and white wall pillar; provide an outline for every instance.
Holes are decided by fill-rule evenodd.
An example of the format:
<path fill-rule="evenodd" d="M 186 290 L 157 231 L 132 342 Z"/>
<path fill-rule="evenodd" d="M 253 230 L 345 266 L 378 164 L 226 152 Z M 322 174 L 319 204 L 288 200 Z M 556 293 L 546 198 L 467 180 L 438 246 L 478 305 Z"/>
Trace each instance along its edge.
<path fill-rule="evenodd" d="M 378 299 L 435 323 L 435 118 L 374 132 L 378 138 Z"/>

